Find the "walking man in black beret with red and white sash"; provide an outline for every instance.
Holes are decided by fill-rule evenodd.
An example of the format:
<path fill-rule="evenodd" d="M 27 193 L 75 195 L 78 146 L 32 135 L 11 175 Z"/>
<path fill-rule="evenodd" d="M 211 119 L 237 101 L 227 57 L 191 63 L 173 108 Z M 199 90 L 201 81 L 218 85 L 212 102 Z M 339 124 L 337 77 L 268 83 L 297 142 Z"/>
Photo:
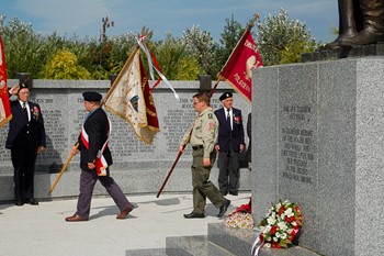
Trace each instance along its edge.
<path fill-rule="evenodd" d="M 117 214 L 116 219 L 125 219 L 134 207 L 110 176 L 109 166 L 112 165 L 112 155 L 108 146 L 108 141 L 111 131 L 111 121 L 101 108 L 102 96 L 94 91 L 86 91 L 82 96 L 84 99 L 83 105 L 89 113 L 78 138 L 81 154 L 80 194 L 76 213 L 65 220 L 68 222 L 89 220 L 92 191 L 98 180 L 106 189 L 120 209 L 120 214 Z M 76 154 L 77 147 L 75 146 L 71 155 L 75 156 Z"/>

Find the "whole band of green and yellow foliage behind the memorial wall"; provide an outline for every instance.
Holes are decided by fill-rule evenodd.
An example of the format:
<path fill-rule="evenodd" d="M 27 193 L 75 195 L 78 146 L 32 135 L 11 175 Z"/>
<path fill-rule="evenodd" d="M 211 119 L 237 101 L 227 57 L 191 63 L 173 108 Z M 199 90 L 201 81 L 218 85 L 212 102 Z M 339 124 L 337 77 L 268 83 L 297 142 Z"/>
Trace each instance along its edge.
<path fill-rule="evenodd" d="M 162 74 L 169 80 L 194 80 L 199 75 L 211 75 L 215 79 L 245 31 L 234 16 L 225 22 L 219 43 L 195 25 L 187 29 L 180 38 L 168 34 L 165 40 L 153 41 L 148 36 L 147 44 Z M 8 24 L 1 19 L 0 33 L 8 78 L 14 78 L 16 73 L 31 73 L 35 79 L 108 79 L 110 74 L 120 73 L 137 45 L 138 35 L 80 40 L 54 32 L 42 36 L 32 30 L 32 24 L 18 19 Z M 291 21 L 283 10 L 258 24 L 257 38 L 264 65 L 300 62 L 301 54 L 315 47 L 305 24 Z"/>

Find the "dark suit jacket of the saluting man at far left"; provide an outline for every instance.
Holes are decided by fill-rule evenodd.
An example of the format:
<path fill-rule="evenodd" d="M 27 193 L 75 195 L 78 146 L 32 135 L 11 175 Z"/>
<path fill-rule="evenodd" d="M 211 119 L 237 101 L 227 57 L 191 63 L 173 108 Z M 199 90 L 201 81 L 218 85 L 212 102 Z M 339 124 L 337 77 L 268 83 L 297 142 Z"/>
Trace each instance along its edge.
<path fill-rule="evenodd" d="M 37 152 L 38 146 L 46 147 L 45 127 L 42 111 L 38 104 L 31 101 L 31 121 L 20 105 L 19 100 L 10 101 L 12 119 L 9 125 L 5 148 L 18 149 L 27 143 L 29 149 Z"/>

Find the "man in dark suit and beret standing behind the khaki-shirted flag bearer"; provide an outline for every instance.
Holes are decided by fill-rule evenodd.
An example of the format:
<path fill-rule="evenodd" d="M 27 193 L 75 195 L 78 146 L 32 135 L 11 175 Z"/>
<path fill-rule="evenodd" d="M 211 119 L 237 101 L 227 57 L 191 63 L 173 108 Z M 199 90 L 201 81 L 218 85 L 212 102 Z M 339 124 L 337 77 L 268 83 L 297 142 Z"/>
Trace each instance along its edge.
<path fill-rule="evenodd" d="M 219 100 L 224 108 L 215 111 L 218 120 L 218 142 L 215 146 L 218 152 L 218 186 L 221 192 L 226 196 L 238 194 L 239 188 L 239 153 L 242 152 L 244 126 L 239 109 L 233 108 L 231 92 L 224 92 Z"/>

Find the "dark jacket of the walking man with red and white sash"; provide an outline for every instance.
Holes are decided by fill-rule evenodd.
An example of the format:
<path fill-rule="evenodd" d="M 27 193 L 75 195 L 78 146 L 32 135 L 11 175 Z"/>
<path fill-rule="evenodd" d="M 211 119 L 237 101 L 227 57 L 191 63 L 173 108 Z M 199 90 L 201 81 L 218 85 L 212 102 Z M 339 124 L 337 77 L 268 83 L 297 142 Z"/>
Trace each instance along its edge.
<path fill-rule="evenodd" d="M 81 136 L 79 136 L 79 151 L 80 155 L 80 168 L 88 170 L 88 163 L 94 163 L 99 149 L 101 149 L 108 140 L 109 133 L 109 121 L 106 113 L 102 108 L 95 109 L 88 115 L 86 123 L 83 124 L 84 130 L 89 137 L 89 148 L 82 144 Z M 110 148 L 106 146 L 103 156 L 108 165 L 112 165 L 112 154 Z"/>

